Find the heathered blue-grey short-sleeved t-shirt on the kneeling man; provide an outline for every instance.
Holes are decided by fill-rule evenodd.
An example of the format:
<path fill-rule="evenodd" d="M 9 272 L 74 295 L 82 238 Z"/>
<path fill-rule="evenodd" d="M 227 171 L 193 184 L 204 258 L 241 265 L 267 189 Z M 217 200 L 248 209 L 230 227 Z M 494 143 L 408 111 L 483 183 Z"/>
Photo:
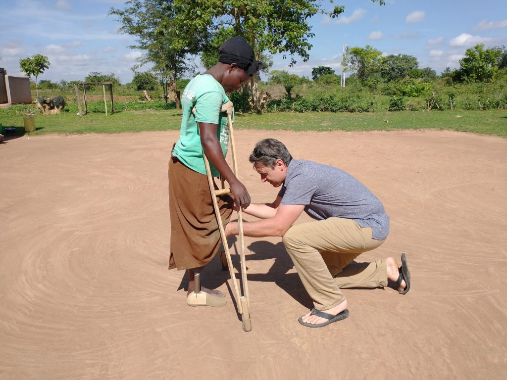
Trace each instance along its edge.
<path fill-rule="evenodd" d="M 317 220 L 340 217 L 371 227 L 372 238 L 389 234 L 389 216 L 375 195 L 343 170 L 307 160 L 292 160 L 287 166 L 280 205 L 305 205 Z"/>

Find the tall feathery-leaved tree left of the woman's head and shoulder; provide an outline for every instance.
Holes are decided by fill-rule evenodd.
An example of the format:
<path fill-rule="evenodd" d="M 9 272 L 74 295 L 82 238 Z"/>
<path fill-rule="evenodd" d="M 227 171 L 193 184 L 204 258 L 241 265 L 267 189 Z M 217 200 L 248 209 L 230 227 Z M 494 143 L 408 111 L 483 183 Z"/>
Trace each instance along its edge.
<path fill-rule="evenodd" d="M 193 2 L 187 5 L 176 3 L 178 2 L 166 0 L 130 0 L 125 3 L 127 8 L 111 8 L 109 14 L 119 17 L 122 33 L 136 37 L 137 44 L 130 48 L 144 52 L 134 68 L 152 64 L 152 70 L 162 84 L 166 104 L 170 87 L 176 94 L 176 107 L 179 107 L 177 79 L 195 68 L 194 65 L 187 64 L 186 55 L 200 52 L 203 44 L 209 40 L 209 35 L 202 33 L 202 39 L 196 38 L 197 32 L 202 32 L 198 14 L 193 14 L 191 18 L 176 25 L 178 12 L 182 13 Z"/>

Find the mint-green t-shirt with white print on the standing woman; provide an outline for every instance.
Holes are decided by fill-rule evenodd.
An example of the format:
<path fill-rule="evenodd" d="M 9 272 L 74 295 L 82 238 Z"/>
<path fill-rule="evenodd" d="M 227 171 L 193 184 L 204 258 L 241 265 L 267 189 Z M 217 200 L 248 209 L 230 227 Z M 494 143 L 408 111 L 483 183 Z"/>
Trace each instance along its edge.
<path fill-rule="evenodd" d="M 222 85 L 209 74 L 197 75 L 185 87 L 182 95 L 183 120 L 179 130 L 179 140 L 172 154 L 190 169 L 206 174 L 198 122 L 219 126 L 216 137 L 220 142 L 224 157 L 227 155 L 229 127 L 226 113 L 220 111 L 222 104 L 228 101 L 229 98 Z M 195 116 L 192 113 L 193 107 L 195 107 Z M 211 162 L 209 164 L 211 174 L 218 177 L 219 171 Z"/>

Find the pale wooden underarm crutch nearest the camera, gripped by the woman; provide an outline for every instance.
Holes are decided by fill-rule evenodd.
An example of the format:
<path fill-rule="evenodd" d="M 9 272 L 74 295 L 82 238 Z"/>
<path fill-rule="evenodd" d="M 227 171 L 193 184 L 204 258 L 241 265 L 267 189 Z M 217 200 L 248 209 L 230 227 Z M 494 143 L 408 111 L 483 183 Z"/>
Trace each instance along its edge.
<path fill-rule="evenodd" d="M 234 143 L 234 131 L 233 131 L 233 125 L 232 125 L 232 102 L 228 102 L 224 104 L 222 108 L 223 112 L 227 112 L 227 124 L 229 127 L 229 140 L 231 142 L 231 153 L 232 153 L 232 169 L 234 172 L 234 175 L 236 178 L 238 177 L 238 164 L 236 161 L 236 146 Z M 240 256 L 240 262 L 241 262 L 241 282 L 243 285 L 243 295 L 241 295 L 236 276 L 234 274 L 234 268 L 232 266 L 232 259 L 231 254 L 229 253 L 229 246 L 227 244 L 227 239 L 225 236 L 225 230 L 224 230 L 224 224 L 222 223 L 222 217 L 220 215 L 220 209 L 218 205 L 218 201 L 216 200 L 216 197 L 224 194 L 230 194 L 231 189 L 230 188 L 224 188 L 224 181 L 222 180 L 222 188 L 219 190 L 215 190 L 214 182 L 213 182 L 213 176 L 211 175 L 211 168 L 209 166 L 209 161 L 206 155 L 203 151 L 203 157 L 204 157 L 204 165 L 206 167 L 206 175 L 208 177 L 208 185 L 209 185 L 209 191 L 211 193 L 211 199 L 213 201 L 213 209 L 215 212 L 216 222 L 218 223 L 219 230 L 220 230 L 220 236 L 222 238 L 222 245 L 224 246 L 224 253 L 227 259 L 227 267 L 229 267 L 229 273 L 231 275 L 232 280 L 232 288 L 233 288 L 233 294 L 234 298 L 236 300 L 236 305 L 238 308 L 238 313 L 241 315 L 241 321 L 243 324 L 243 330 L 244 331 L 250 331 L 252 329 L 251 327 L 251 321 L 250 321 L 250 302 L 248 297 L 248 283 L 246 279 L 246 263 L 245 263 L 245 253 L 244 253 L 244 239 L 243 239 L 243 217 L 241 214 L 241 208 L 238 208 L 238 236 L 240 241 L 240 247 L 239 247 L 239 256 Z M 223 258 L 221 257 L 221 260 Z M 222 266 L 225 268 L 225 263 L 222 263 Z"/>

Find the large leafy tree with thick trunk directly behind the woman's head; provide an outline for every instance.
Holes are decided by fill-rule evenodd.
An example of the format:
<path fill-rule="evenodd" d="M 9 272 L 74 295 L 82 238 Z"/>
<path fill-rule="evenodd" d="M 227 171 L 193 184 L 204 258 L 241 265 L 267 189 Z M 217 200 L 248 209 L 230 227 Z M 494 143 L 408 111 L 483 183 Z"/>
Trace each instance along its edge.
<path fill-rule="evenodd" d="M 376 2 L 377 0 L 372 0 Z M 378 0 L 384 4 L 383 0 Z M 311 31 L 309 20 L 321 13 L 336 17 L 343 12 L 343 6 L 335 6 L 330 11 L 322 8 L 322 0 L 285 1 L 273 0 L 207 0 L 201 2 L 174 0 L 177 8 L 178 29 L 192 26 L 192 38 L 203 41 L 221 27 L 234 29 L 234 35 L 243 36 L 253 47 L 256 59 L 261 53 L 282 54 L 284 59 L 290 58 L 289 66 L 296 63 L 295 56 L 303 61 L 309 59 L 308 51 L 312 45 L 309 40 L 315 35 Z M 331 0 L 330 3 L 333 3 Z M 165 29 L 167 27 L 162 25 Z M 181 34 L 181 33 L 180 33 Z M 250 92 L 255 109 L 259 109 L 257 75 L 250 80 Z"/>

